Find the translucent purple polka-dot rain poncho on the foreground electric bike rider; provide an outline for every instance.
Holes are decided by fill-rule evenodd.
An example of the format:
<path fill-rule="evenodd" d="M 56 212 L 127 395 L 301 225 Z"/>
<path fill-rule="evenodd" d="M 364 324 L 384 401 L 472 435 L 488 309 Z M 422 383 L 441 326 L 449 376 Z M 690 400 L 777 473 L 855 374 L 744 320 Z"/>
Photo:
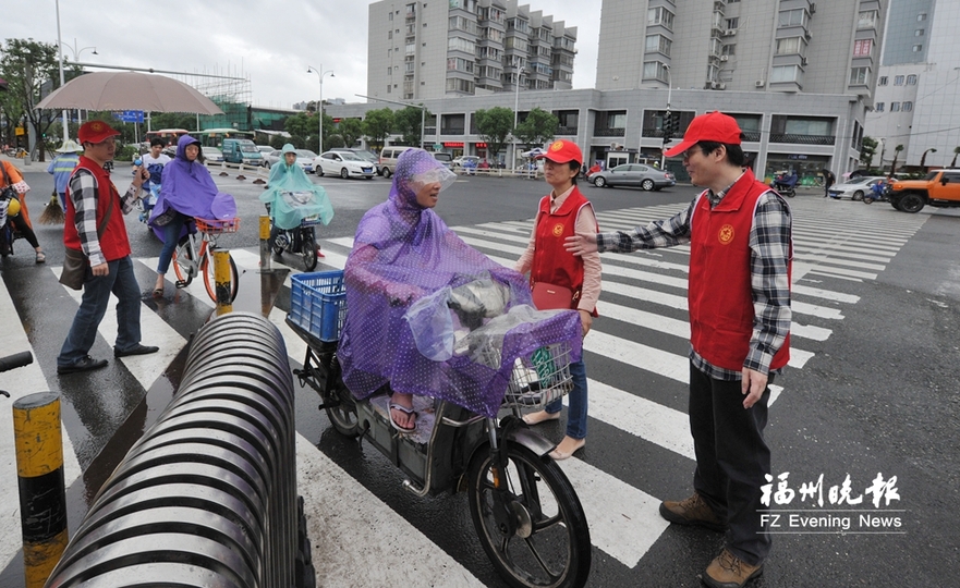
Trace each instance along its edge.
<path fill-rule="evenodd" d="M 523 275 L 471 248 L 436 212 L 416 203 L 423 183 L 445 183 L 447 176 L 453 179 L 433 156 L 408 149 L 397 162 L 389 199 L 360 221 L 344 268 L 348 313 L 338 357 L 343 381 L 359 399 L 389 383 L 394 392 L 433 396 L 495 417 L 514 359 L 561 341 L 571 343 L 573 360 L 580 358 L 580 316 L 528 307 Z M 477 284 L 493 286 L 484 291 L 499 293 L 502 304 L 496 311 L 513 319 L 509 330 L 479 338 L 493 341 L 494 362 L 464 353 L 472 343 L 463 334 L 477 323 L 463 324 L 447 308 L 453 293 Z M 484 327 L 471 334 L 503 323 L 491 321 L 494 316 L 483 316 L 478 322 Z"/>

